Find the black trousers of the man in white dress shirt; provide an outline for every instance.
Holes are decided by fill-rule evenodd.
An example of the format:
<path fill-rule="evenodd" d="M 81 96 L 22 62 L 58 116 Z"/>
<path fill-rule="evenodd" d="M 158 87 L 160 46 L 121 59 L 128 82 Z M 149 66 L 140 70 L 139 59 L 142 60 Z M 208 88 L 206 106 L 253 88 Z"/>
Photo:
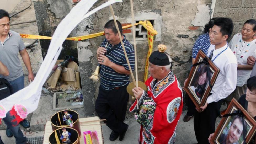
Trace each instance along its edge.
<path fill-rule="evenodd" d="M 215 132 L 216 118 L 220 115 L 220 107 L 223 99 L 218 102 L 208 104 L 206 109 L 199 113 L 195 112 L 194 116 L 194 130 L 196 140 L 199 144 L 207 144 L 208 137 Z"/>

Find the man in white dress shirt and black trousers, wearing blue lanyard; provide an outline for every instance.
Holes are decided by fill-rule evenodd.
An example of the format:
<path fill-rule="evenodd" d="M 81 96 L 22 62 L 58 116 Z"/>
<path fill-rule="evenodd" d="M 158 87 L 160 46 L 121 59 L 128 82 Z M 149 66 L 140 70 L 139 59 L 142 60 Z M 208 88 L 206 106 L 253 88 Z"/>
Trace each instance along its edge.
<path fill-rule="evenodd" d="M 227 39 L 233 31 L 233 22 L 229 18 L 218 18 L 210 29 L 211 45 L 207 56 L 220 69 L 220 73 L 207 98 L 202 112 L 198 111 L 194 117 L 194 130 L 199 144 L 206 144 L 208 137 L 215 131 L 215 121 L 220 114 L 220 107 L 228 95 L 236 88 L 237 59 L 227 45 Z"/>

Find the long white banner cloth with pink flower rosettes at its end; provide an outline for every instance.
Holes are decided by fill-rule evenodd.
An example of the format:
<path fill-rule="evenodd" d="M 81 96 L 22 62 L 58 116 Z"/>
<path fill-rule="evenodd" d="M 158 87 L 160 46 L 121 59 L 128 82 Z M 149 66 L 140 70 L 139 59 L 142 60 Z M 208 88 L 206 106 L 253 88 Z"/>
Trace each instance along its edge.
<path fill-rule="evenodd" d="M 122 2 L 122 0 L 110 0 L 88 12 L 95 2 L 97 0 L 81 0 L 60 22 L 52 36 L 47 54 L 34 81 L 24 89 L 0 101 L 0 118 L 4 118 L 6 113 L 12 110 L 11 112 L 16 112 L 16 116 L 18 115 L 20 118 L 25 119 L 29 113 L 36 110 L 41 96 L 42 86 L 54 67 L 62 50 L 62 44 L 67 36 L 84 18 L 113 3 Z"/>

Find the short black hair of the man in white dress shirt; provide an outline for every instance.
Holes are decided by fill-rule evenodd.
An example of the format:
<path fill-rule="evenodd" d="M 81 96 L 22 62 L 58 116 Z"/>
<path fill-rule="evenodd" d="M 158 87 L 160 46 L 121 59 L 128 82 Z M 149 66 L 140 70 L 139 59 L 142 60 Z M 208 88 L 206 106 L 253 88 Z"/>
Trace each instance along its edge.
<path fill-rule="evenodd" d="M 218 18 L 214 20 L 214 25 L 220 27 L 222 35 L 228 35 L 228 39 L 230 38 L 234 29 L 234 24 L 230 18 Z"/>

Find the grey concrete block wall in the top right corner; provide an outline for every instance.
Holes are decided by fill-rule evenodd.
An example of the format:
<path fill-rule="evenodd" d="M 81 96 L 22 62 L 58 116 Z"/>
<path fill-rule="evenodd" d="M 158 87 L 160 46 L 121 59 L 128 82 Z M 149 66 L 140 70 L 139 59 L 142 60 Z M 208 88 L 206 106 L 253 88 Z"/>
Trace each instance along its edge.
<path fill-rule="evenodd" d="M 216 1 L 214 17 L 228 17 L 233 20 L 233 35 L 241 33 L 243 24 L 248 19 L 256 19 L 255 0 L 218 0 Z"/>

